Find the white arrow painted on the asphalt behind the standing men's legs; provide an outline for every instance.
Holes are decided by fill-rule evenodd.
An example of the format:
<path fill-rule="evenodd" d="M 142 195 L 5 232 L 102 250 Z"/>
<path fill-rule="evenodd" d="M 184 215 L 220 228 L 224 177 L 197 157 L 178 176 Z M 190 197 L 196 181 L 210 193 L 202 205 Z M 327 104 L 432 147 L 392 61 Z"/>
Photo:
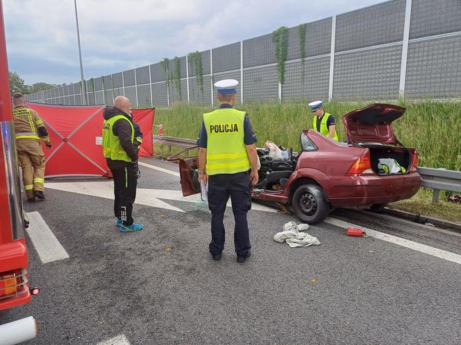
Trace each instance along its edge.
<path fill-rule="evenodd" d="M 83 195 L 91 195 L 94 197 L 104 197 L 106 199 L 114 199 L 114 183 L 113 182 L 52 182 L 47 184 L 47 188 L 56 189 L 58 191 L 65 191 L 70 193 L 78 193 Z M 162 202 L 162 200 L 178 200 L 182 202 L 194 202 L 196 204 L 204 204 L 200 199 L 200 194 L 190 195 L 189 197 L 183 197 L 181 191 L 169 191 L 166 189 L 149 189 L 149 188 L 137 188 L 135 204 L 146 205 L 157 207 L 158 209 L 167 209 L 171 211 L 184 212 L 175 206 Z M 227 206 L 231 206 L 230 200 Z M 276 213 L 276 209 L 255 204 L 251 206 L 254 211 L 265 211 Z"/>

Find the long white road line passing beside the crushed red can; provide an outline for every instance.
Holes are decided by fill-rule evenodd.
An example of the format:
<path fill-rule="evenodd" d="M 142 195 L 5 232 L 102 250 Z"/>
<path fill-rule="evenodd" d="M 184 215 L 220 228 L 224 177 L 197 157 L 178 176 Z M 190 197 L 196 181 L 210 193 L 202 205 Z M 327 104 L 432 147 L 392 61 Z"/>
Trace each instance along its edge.
<path fill-rule="evenodd" d="M 401 245 L 402 247 L 410 248 L 416 251 L 421 251 L 421 253 L 429 254 L 437 258 L 442 258 L 444 260 L 451 261 L 452 263 L 459 263 L 461 265 L 461 255 L 451 253 L 450 251 L 444 251 L 442 249 L 437 249 L 434 247 L 430 247 L 428 245 L 421 245 L 421 243 L 418 243 L 418 242 L 405 240 L 404 238 L 388 235 L 387 233 L 382 233 L 380 231 L 376 231 L 376 230 L 369 229 L 366 227 L 361 227 L 360 225 L 349 223 L 349 222 L 344 222 L 342 220 L 337 220 L 334 218 L 326 218 L 324 222 L 327 222 L 328 224 L 336 225 L 337 227 L 360 228 L 367 233 L 367 236 L 378 238 L 378 240 L 391 242 L 391 243 L 394 243 L 394 245 Z"/>

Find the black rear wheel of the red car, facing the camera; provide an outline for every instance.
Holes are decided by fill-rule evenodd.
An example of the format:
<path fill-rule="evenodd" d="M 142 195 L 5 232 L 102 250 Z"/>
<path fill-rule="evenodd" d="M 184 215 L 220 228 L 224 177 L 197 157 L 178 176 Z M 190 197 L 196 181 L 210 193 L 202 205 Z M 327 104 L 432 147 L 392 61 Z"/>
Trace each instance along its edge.
<path fill-rule="evenodd" d="M 330 204 L 317 184 L 299 186 L 294 192 L 292 204 L 296 217 L 308 224 L 322 222 L 330 213 Z"/>

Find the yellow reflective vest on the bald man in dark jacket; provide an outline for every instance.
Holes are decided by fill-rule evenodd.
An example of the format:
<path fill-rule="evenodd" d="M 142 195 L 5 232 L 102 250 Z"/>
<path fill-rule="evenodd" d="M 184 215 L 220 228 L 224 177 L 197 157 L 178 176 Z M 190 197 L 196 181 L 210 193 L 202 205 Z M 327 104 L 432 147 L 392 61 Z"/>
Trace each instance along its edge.
<path fill-rule="evenodd" d="M 104 157 L 112 159 L 112 161 L 128 161 L 131 162 L 131 157 L 126 154 L 126 151 L 121 147 L 120 139 L 113 132 L 114 124 L 117 121 L 128 121 L 131 126 L 131 143 L 135 139 L 135 129 L 133 123 L 123 115 L 117 115 L 104 121 L 103 124 L 103 154 Z"/>

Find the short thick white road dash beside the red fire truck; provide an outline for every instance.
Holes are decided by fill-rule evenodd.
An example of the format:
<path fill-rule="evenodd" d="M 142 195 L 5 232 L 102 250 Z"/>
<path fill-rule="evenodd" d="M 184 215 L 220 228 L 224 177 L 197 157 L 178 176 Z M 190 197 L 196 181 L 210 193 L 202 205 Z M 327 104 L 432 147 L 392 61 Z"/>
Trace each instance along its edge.
<path fill-rule="evenodd" d="M 27 215 L 29 227 L 26 231 L 42 263 L 52 263 L 56 260 L 69 258 L 69 254 L 54 236 L 53 231 L 43 220 L 42 215 L 38 212 L 29 212 Z"/>

